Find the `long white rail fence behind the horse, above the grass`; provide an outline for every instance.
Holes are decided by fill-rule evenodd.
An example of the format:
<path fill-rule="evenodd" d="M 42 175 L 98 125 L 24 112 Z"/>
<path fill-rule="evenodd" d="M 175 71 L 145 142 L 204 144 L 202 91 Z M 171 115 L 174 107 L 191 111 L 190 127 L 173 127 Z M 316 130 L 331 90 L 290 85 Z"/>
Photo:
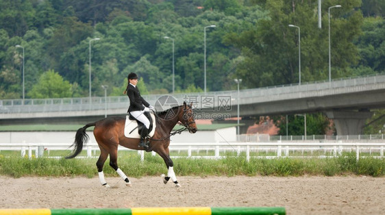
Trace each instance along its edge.
<path fill-rule="evenodd" d="M 21 156 L 25 157 L 26 151 L 29 159 L 32 159 L 32 151 L 35 151 L 35 157 L 42 157 L 44 151 L 53 150 L 69 150 L 71 144 L 68 143 L 0 143 L 0 150 L 21 151 Z M 343 151 L 355 151 L 356 159 L 360 157 L 375 157 L 384 158 L 384 142 L 203 142 L 203 143 L 175 143 L 173 142 L 169 149 L 171 157 L 190 157 L 192 159 L 221 159 L 227 156 L 228 152 L 236 153 L 240 156 L 245 153 L 246 160 L 249 161 L 251 157 L 255 158 L 279 158 L 279 157 L 298 157 L 298 158 L 325 158 L 338 157 L 342 155 Z M 87 144 L 84 147 L 87 151 L 86 157 L 94 157 L 96 151 L 99 151 L 97 144 Z M 119 151 L 131 150 L 119 146 Z M 187 155 L 174 155 L 186 151 Z M 206 155 L 200 155 L 199 152 L 206 151 Z M 209 151 L 214 155 L 209 155 Z M 290 152 L 291 151 L 291 152 Z M 92 152 L 94 155 L 92 155 Z M 318 153 L 316 153 L 318 152 Z M 320 155 L 320 153 L 322 155 Z M 192 155 L 197 153 L 197 155 Z M 265 153 L 258 155 L 258 153 Z M 310 155 L 309 155 L 310 153 Z M 316 153 L 316 155 L 313 155 Z M 360 153 L 365 153 L 365 156 L 360 156 Z M 144 151 L 138 151 L 141 160 L 144 160 Z M 154 152 L 152 152 L 155 155 Z M 254 155 L 255 154 L 255 155 Z M 301 155 L 298 155 L 301 154 Z M 306 154 L 306 155 L 305 155 Z M 60 158 L 60 157 L 55 157 Z"/>

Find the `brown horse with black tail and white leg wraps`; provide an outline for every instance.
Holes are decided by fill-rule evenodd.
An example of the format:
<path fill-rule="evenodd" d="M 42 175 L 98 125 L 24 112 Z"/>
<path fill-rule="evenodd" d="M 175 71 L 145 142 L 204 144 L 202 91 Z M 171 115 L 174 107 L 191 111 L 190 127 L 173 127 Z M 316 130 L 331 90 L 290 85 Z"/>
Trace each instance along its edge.
<path fill-rule="evenodd" d="M 197 124 L 195 123 L 192 112 L 192 103 L 187 105 L 186 102 L 184 102 L 183 105 L 175 106 L 163 112 L 156 112 L 156 115 L 155 134 L 149 138 L 149 148 L 147 150 L 143 147 L 138 147 L 140 138 L 125 137 L 125 118 L 108 117 L 94 123 L 88 123 L 84 125 L 84 127 L 77 129 L 75 141 L 71 145 L 71 147 L 74 148 L 73 152 L 71 155 L 67 156 L 66 159 L 76 157 L 80 152 L 82 152 L 84 144 L 88 142 L 89 139 L 88 134 L 86 134 L 86 129 L 94 126 L 95 128 L 93 133 L 100 149 L 100 156 L 96 165 L 99 181 L 102 186 L 105 186 L 106 188 L 110 187 L 105 181 L 103 174 L 103 166 L 108 155 L 110 155 L 110 166 L 125 181 L 126 186 L 132 186 L 131 181 L 129 181 L 128 177 L 119 168 L 117 163 L 118 146 L 121 145 L 122 147 L 126 147 L 128 149 L 154 151 L 158 153 L 158 155 L 163 158 L 168 169 L 167 176 L 163 179 L 164 184 L 167 184 L 167 181 L 171 178 L 175 186 L 180 187 L 173 170 L 173 160 L 171 160 L 170 157 L 170 136 L 173 135 L 171 134 L 171 131 L 177 123 L 183 125 L 184 129 L 188 129 L 191 134 L 195 134 L 195 132 L 197 132 Z"/>

